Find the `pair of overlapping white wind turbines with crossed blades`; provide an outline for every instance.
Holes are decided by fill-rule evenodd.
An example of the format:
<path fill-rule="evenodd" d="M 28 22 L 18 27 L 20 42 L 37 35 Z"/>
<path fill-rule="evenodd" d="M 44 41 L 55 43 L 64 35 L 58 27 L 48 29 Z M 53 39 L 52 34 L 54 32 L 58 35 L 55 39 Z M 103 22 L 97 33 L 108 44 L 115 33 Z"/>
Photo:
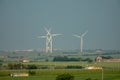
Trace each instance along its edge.
<path fill-rule="evenodd" d="M 61 34 L 52 34 L 51 29 L 45 28 L 45 30 L 46 30 L 47 34 L 45 36 L 39 36 L 38 38 L 46 38 L 46 53 L 48 53 L 48 52 L 52 53 L 52 50 L 53 50 L 52 38 L 55 36 L 61 35 Z"/>

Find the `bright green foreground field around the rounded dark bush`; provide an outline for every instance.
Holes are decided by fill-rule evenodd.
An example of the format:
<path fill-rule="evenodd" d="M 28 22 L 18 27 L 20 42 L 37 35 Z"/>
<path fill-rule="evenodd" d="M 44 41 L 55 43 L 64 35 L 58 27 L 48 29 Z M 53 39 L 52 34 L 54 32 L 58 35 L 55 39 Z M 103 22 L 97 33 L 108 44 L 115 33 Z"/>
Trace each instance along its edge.
<path fill-rule="evenodd" d="M 0 74 L 9 74 L 11 72 L 25 72 L 26 70 L 14 70 L 14 71 L 0 71 Z M 102 70 L 34 70 L 36 71 L 35 76 L 29 77 L 9 77 L 2 76 L 0 80 L 55 80 L 58 74 L 70 73 L 75 76 L 75 80 L 85 80 L 91 78 L 93 80 L 102 79 Z M 26 71 L 27 72 L 27 71 Z M 120 70 L 104 70 L 104 80 L 119 80 Z"/>

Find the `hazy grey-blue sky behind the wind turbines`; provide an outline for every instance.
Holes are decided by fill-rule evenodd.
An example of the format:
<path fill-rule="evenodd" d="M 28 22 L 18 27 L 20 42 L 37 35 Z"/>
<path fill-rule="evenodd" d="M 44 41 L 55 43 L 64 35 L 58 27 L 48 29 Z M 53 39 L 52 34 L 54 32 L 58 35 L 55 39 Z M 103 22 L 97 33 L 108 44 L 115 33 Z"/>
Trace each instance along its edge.
<path fill-rule="evenodd" d="M 0 50 L 45 48 L 44 27 L 60 33 L 54 49 L 120 50 L 120 0 L 0 0 Z"/>

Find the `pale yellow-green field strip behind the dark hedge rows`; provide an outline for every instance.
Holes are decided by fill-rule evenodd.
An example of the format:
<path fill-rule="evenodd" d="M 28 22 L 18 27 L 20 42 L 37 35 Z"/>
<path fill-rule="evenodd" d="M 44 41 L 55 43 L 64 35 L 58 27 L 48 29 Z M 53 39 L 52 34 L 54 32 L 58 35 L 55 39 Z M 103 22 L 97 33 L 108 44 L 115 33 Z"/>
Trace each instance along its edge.
<path fill-rule="evenodd" d="M 50 68 L 54 67 L 65 67 L 65 66 L 101 66 L 104 68 L 112 68 L 112 69 L 120 69 L 120 62 L 31 62 L 31 63 L 24 63 L 25 65 L 28 64 L 36 64 L 36 65 L 45 65 Z"/>

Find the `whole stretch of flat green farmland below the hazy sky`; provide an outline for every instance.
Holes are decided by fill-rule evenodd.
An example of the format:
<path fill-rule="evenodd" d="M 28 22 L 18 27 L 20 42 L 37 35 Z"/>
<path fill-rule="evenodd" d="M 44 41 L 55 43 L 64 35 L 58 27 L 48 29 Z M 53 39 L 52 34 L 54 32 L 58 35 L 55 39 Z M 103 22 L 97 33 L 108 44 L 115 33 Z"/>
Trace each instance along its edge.
<path fill-rule="evenodd" d="M 120 58 L 120 52 L 1 52 L 0 80 L 55 80 L 57 75 L 69 73 L 75 80 L 120 80 L 120 62 L 95 62 L 95 57 L 100 55 L 106 58 Z M 55 58 L 58 61 L 55 61 Z M 22 62 L 29 59 L 30 62 Z M 63 61 L 64 60 L 64 61 Z M 89 61 L 90 60 L 90 61 Z M 92 60 L 92 61 L 91 61 Z M 96 66 L 102 69 L 89 70 L 85 67 Z M 10 77 L 11 73 L 29 73 L 28 77 Z"/>

